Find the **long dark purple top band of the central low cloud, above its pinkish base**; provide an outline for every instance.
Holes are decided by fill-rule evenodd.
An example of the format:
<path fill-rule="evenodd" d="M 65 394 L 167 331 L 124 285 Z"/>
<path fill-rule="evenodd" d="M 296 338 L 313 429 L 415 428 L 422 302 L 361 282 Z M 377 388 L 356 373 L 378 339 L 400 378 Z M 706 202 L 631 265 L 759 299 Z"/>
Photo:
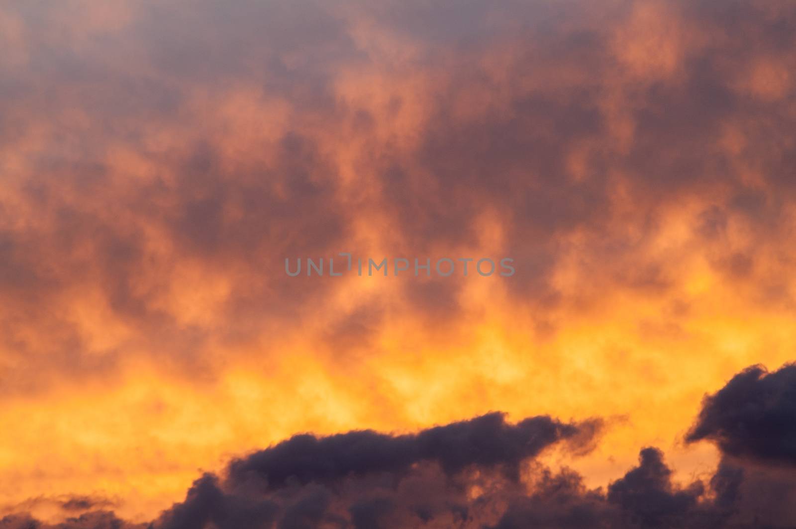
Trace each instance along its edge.
<path fill-rule="evenodd" d="M 594 434 L 595 424 L 587 422 L 583 429 Z M 470 466 L 497 467 L 517 479 L 522 461 L 557 441 L 574 438 L 583 429 L 548 417 L 528 418 L 511 425 L 503 414 L 492 413 L 397 437 L 373 431 L 327 438 L 305 434 L 233 461 L 230 476 L 244 481 L 248 474 L 256 474 L 267 481 L 269 488 L 279 488 L 291 478 L 301 484 L 331 483 L 352 474 L 405 473 L 416 463 L 431 461 L 447 474 Z"/>

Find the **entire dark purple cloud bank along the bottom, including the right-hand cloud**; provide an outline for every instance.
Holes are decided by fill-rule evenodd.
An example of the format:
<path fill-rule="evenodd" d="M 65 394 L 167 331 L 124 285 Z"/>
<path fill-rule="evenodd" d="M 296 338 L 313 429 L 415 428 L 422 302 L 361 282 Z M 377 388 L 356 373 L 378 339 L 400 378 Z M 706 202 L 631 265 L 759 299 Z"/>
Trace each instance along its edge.
<path fill-rule="evenodd" d="M 706 397 L 688 438 L 714 438 L 716 416 L 722 418 L 718 430 L 724 433 L 714 440 L 723 459 L 706 483 L 674 484 L 661 450 L 646 447 L 638 465 L 607 489 L 589 489 L 578 473 L 554 472 L 537 456 L 562 442 L 568 451 L 588 449 L 602 422 L 539 416 L 510 424 L 492 413 L 417 434 L 296 435 L 237 458 L 222 476 L 205 473 L 185 500 L 150 523 L 127 523 L 87 505 L 84 514 L 57 525 L 10 515 L 0 527 L 792 527 L 794 373 L 793 365 L 772 373 L 755 366 Z"/>

